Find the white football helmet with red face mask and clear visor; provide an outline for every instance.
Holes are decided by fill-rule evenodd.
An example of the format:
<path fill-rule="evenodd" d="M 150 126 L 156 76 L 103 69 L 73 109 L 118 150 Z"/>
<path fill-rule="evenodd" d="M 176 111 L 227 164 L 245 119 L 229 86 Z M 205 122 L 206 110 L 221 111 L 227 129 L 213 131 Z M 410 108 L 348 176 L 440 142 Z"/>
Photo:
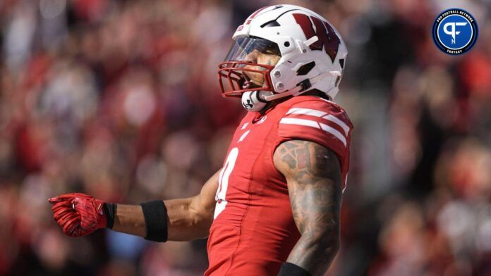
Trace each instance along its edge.
<path fill-rule="evenodd" d="M 322 16 L 293 5 L 260 8 L 238 26 L 224 62 L 219 64 L 223 96 L 243 96 L 246 109 L 311 89 L 334 99 L 348 51 L 341 35 Z M 279 56 L 276 64 L 251 61 L 253 51 Z M 262 87 L 250 87 L 251 74 L 262 75 Z M 244 95 L 243 95 L 244 94 Z M 250 108 L 248 108 L 250 105 Z M 264 105 L 262 105 L 264 106 Z"/>

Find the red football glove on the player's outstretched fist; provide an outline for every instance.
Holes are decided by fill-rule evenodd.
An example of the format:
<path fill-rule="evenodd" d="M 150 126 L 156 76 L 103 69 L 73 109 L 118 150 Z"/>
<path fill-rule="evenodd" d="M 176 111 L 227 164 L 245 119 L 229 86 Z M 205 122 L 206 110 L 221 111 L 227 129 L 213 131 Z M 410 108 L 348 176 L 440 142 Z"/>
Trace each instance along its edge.
<path fill-rule="evenodd" d="M 104 201 L 87 194 L 72 193 L 52 197 L 53 219 L 71 237 L 81 237 L 106 227 Z"/>

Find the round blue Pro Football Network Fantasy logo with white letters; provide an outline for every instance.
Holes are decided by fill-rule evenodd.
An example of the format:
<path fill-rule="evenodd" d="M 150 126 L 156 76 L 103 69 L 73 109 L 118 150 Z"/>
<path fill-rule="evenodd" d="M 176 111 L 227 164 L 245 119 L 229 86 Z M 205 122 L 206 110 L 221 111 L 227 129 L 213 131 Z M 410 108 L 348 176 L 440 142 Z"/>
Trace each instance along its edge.
<path fill-rule="evenodd" d="M 478 39 L 478 23 L 461 8 L 442 11 L 432 27 L 433 42 L 445 54 L 461 55 L 469 51 Z"/>

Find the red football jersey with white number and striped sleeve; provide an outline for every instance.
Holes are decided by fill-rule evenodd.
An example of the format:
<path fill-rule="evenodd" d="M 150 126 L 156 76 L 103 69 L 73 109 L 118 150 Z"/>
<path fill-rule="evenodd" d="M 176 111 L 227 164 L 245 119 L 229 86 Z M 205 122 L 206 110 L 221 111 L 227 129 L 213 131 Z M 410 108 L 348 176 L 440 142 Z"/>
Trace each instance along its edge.
<path fill-rule="evenodd" d="M 274 149 L 292 139 L 326 146 L 339 158 L 344 189 L 352 127 L 342 108 L 317 96 L 296 96 L 264 115 L 245 115 L 219 174 L 205 275 L 277 275 L 300 233 L 286 180 L 274 167 Z"/>

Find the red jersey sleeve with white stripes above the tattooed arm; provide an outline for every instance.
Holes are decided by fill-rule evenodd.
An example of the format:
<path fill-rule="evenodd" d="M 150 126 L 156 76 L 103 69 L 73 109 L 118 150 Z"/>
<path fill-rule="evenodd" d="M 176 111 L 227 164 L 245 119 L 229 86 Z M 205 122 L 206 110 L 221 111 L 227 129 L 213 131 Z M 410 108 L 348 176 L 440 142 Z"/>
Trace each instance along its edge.
<path fill-rule="evenodd" d="M 349 146 L 353 125 L 346 112 L 324 100 L 301 101 L 290 106 L 279 120 L 278 145 L 288 140 L 305 140 L 337 154 L 344 182 L 349 168 Z"/>

